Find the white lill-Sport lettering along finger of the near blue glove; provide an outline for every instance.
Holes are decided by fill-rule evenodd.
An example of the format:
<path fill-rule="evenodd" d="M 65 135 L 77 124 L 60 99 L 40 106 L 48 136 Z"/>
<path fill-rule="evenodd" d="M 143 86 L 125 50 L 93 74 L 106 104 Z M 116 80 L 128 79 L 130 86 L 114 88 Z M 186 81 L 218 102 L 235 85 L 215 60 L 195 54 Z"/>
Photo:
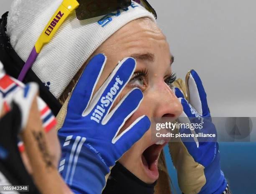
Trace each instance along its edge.
<path fill-rule="evenodd" d="M 100 99 L 100 105 L 97 105 L 97 107 L 94 109 L 91 120 L 96 121 L 97 123 L 100 123 L 103 113 L 105 113 L 105 108 L 110 105 L 110 102 L 113 102 L 114 96 L 119 92 L 120 86 L 123 85 L 123 81 L 120 80 L 119 76 L 115 78 L 115 84 L 113 87 L 110 88 L 110 91 L 106 96 L 101 97 Z"/>

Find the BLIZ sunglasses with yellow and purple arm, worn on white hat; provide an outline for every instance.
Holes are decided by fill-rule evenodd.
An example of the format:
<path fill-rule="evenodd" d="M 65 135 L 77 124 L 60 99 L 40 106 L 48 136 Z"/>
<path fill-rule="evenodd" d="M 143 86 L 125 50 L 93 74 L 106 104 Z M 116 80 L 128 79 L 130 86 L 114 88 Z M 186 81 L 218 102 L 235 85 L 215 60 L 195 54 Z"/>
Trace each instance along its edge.
<path fill-rule="evenodd" d="M 156 11 L 146 0 L 134 1 L 145 7 L 146 10 L 157 17 Z M 74 10 L 76 11 L 78 20 L 86 20 L 92 17 L 107 15 L 120 9 L 125 9 L 130 5 L 132 5 L 131 0 L 63 0 L 59 8 L 51 17 L 51 20 L 46 25 L 44 31 L 36 41 L 36 44 L 28 57 L 28 60 L 26 61 L 20 72 L 20 75 L 18 76 L 18 80 L 22 81 L 24 79 L 26 73 L 35 62 L 36 57 L 40 53 L 42 47 L 51 40 L 51 38 L 54 36 L 56 31 L 71 12 Z"/>

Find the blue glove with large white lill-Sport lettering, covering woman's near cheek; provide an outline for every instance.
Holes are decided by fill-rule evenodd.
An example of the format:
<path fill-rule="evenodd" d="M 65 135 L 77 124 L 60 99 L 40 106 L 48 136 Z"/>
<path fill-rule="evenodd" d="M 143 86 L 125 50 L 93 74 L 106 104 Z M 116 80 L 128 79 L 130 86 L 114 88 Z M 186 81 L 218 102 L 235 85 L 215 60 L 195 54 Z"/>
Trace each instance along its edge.
<path fill-rule="evenodd" d="M 118 135 L 143 99 L 138 88 L 110 111 L 133 75 L 133 58 L 119 62 L 92 98 L 106 60 L 99 54 L 88 63 L 69 95 L 67 115 L 58 132 L 62 149 L 59 172 L 75 193 L 100 194 L 111 167 L 150 127 L 150 120 L 143 115 Z"/>

